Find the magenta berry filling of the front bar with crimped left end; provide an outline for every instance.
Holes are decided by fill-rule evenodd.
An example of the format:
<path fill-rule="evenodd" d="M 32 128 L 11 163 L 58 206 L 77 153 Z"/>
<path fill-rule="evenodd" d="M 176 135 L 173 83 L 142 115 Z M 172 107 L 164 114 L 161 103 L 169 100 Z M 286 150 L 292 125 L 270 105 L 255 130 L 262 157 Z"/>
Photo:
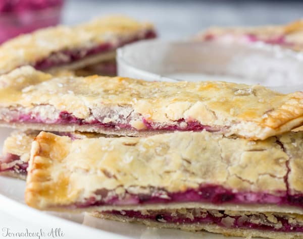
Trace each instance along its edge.
<path fill-rule="evenodd" d="M 112 191 L 98 190 L 101 196 L 86 199 L 84 203 L 77 203 L 76 207 L 85 208 L 103 205 L 144 205 L 166 203 L 204 202 L 213 204 L 275 204 L 303 207 L 303 195 L 288 195 L 286 191 L 276 192 L 276 195 L 265 192 L 234 192 L 216 185 L 201 185 L 198 189 L 188 189 L 185 192 L 170 193 L 155 190 L 151 194 L 131 194 L 126 191 L 123 198 Z"/>

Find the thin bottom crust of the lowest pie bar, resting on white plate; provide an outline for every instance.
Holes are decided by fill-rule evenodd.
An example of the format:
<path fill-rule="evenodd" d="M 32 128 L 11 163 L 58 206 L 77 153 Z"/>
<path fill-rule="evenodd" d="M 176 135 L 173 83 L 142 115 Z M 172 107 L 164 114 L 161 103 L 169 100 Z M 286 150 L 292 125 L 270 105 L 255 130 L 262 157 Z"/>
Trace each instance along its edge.
<path fill-rule="evenodd" d="M 140 219 L 135 217 L 127 217 L 123 215 L 111 214 L 108 212 L 94 212 L 92 216 L 110 219 L 120 222 L 134 222 L 144 224 L 149 227 L 158 228 L 171 228 L 171 229 L 181 229 L 185 231 L 192 232 L 203 232 L 209 231 L 214 233 L 224 234 L 226 236 L 242 236 L 242 237 L 265 237 L 272 239 L 299 239 L 302 238 L 301 232 L 279 232 L 279 231 L 269 231 L 269 230 L 257 230 L 257 229 L 242 229 L 242 228 L 228 228 L 216 224 L 210 223 L 168 223 L 160 222 L 156 220 Z"/>

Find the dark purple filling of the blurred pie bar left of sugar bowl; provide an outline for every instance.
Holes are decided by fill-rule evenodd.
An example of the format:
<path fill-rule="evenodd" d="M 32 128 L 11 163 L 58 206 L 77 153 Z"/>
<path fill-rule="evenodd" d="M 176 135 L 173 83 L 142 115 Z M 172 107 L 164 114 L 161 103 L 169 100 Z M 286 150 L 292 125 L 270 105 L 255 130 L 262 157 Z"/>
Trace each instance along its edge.
<path fill-rule="evenodd" d="M 143 37 L 134 37 L 130 40 L 122 41 L 119 43 L 119 45 L 113 45 L 111 43 L 103 43 L 93 48 L 87 48 L 87 49 L 74 49 L 74 50 L 63 50 L 60 52 L 54 52 L 47 58 L 41 59 L 40 61 L 36 62 L 34 65 L 34 68 L 37 70 L 45 70 L 48 68 L 61 66 L 62 64 L 69 64 L 76 61 L 79 61 L 80 59 L 83 59 L 87 56 L 92 56 L 98 53 L 105 53 L 112 50 L 115 50 L 117 47 L 121 47 L 125 44 L 139 41 L 142 39 L 151 39 L 155 38 L 156 33 L 152 30 L 147 31 Z"/>

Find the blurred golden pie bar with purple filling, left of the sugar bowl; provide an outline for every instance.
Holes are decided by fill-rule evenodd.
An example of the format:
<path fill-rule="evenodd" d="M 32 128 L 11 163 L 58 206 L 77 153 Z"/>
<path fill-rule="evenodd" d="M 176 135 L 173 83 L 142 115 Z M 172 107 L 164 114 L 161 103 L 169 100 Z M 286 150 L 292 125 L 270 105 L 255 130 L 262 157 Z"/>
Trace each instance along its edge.
<path fill-rule="evenodd" d="M 115 59 L 116 48 L 155 37 L 151 24 L 123 16 L 99 18 L 73 27 L 49 27 L 1 45 L 0 74 L 25 65 L 43 71 L 79 69 L 104 61 L 108 65 Z"/>

